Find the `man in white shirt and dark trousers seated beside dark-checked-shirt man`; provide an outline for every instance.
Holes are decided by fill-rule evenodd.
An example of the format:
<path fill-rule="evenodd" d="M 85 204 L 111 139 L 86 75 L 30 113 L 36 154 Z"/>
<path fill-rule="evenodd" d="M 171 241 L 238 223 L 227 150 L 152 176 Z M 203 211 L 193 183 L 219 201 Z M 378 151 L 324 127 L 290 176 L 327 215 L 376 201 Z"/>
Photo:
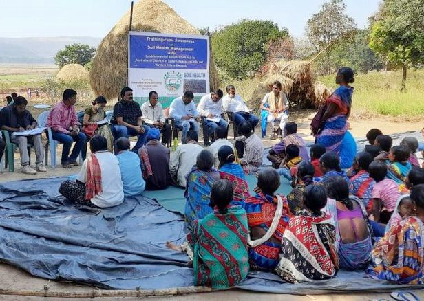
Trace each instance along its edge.
<path fill-rule="evenodd" d="M 171 142 L 171 125 L 165 123 L 165 114 L 158 98 L 158 92 L 150 91 L 149 101 L 142 104 L 141 113 L 148 126 L 159 129 L 162 133 L 162 144 L 167 144 Z"/>

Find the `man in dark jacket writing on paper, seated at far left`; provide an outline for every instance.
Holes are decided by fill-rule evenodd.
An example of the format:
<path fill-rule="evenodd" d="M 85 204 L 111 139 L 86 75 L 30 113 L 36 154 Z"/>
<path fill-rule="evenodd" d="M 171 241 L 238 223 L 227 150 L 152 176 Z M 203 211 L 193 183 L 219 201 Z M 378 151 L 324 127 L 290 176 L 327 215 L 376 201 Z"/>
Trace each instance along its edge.
<path fill-rule="evenodd" d="M 1 109 L 0 129 L 8 131 L 12 142 L 18 144 L 19 153 L 21 154 L 22 172 L 34 175 L 36 171 L 46 172 L 47 169 L 44 166 L 41 131 L 36 131 L 36 135 L 30 132 L 36 128 L 37 124 L 30 111 L 26 109 L 27 104 L 28 101 L 23 96 L 18 96 L 13 104 Z M 29 143 L 34 145 L 36 170 L 30 166 Z"/>

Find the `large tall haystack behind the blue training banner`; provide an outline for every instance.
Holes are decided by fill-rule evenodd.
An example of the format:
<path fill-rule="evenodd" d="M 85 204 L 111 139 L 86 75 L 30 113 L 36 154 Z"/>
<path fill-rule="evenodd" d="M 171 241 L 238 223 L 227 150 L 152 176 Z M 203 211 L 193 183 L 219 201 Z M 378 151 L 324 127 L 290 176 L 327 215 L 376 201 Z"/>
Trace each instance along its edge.
<path fill-rule="evenodd" d="M 90 82 L 97 95 L 113 99 L 128 82 L 128 11 L 98 46 L 90 69 Z M 140 0 L 134 4 L 132 30 L 167 34 L 200 34 L 168 5 L 160 0 Z M 220 80 L 211 57 L 209 79 L 211 89 Z"/>

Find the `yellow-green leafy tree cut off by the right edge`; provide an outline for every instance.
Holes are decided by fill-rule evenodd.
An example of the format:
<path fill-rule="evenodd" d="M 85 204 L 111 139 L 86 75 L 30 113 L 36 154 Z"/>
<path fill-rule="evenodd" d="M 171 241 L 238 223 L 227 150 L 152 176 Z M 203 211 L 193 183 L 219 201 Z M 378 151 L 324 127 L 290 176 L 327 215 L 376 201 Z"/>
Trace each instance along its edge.
<path fill-rule="evenodd" d="M 424 63 L 424 0 L 385 0 L 373 21 L 370 48 L 402 68 L 405 91 L 407 68 Z"/>

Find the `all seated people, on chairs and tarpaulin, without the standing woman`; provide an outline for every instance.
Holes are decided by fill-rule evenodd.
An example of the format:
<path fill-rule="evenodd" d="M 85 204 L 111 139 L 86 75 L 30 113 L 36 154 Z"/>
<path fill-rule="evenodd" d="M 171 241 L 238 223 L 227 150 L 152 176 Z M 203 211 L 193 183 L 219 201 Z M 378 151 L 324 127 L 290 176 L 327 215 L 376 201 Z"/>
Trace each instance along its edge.
<path fill-rule="evenodd" d="M 114 106 L 112 126 L 105 128 L 97 122 L 106 117 L 106 100 L 96 98 L 84 112 L 80 131 L 76 92 L 65 90 L 47 118 L 53 138 L 63 143 L 62 166 L 78 165 L 87 141 L 91 155 L 76 179 L 64 181 L 59 192 L 71 203 L 107 208 L 144 190 L 184 188 L 187 242 L 167 242 L 167 247 L 187 252 L 195 285 L 231 287 L 249 269 L 275 272 L 292 283 L 330 279 L 339 269 L 348 269 L 363 270 L 371 278 L 424 284 L 424 170 L 416 157 L 416 138 L 405 137 L 393 146 L 390 136 L 372 129 L 370 144 L 360 153 L 355 146 L 356 156 L 346 169 L 341 157 L 322 144 L 312 145 L 308 153 L 297 124 L 279 116 L 283 137 L 268 153 L 272 167 L 263 168 L 264 145 L 253 131 L 258 120 L 233 86 L 226 92 L 207 94 L 197 108 L 191 91 L 173 100 L 169 115 L 182 129 L 182 144 L 170 153 L 164 144 L 170 142 L 171 130 L 155 91 L 140 108 L 125 87 Z M 275 97 L 268 96 L 264 108 Z M 286 109 L 284 98 L 280 102 L 277 111 Z M 18 97 L 1 110 L 1 129 L 33 129 L 37 124 L 26 105 Z M 233 144 L 226 139 L 224 111 L 233 113 L 240 134 Z M 201 118 L 213 142 L 209 149 L 198 144 Z M 131 135 L 137 136 L 132 150 Z M 45 171 L 41 136 L 13 139 L 24 170 L 35 172 L 25 167 L 32 143 L 36 170 Z M 246 181 L 252 174 L 257 176 L 253 194 Z M 277 193 L 284 178 L 293 187 L 287 196 Z"/>

